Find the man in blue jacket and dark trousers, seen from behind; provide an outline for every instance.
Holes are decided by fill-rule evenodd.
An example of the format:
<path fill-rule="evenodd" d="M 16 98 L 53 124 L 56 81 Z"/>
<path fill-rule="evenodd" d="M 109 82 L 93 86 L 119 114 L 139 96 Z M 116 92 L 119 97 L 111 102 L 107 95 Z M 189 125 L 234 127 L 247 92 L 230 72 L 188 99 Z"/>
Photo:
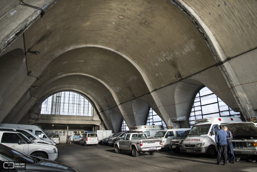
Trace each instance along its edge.
<path fill-rule="evenodd" d="M 221 152 L 223 149 L 223 163 L 227 165 L 227 132 L 224 131 L 224 126 L 220 126 L 221 129 L 215 133 L 215 142 L 218 148 L 217 165 L 221 165 Z"/>

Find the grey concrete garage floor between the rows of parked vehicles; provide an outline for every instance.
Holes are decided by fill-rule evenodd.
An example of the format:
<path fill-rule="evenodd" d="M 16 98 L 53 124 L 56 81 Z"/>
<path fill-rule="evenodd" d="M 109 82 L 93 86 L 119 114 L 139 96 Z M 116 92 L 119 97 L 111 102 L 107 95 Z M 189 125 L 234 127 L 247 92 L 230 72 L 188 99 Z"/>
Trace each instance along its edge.
<path fill-rule="evenodd" d="M 236 164 L 228 163 L 227 166 L 215 165 L 216 157 L 207 158 L 202 154 L 188 156 L 186 153 L 172 151 L 158 151 L 154 156 L 149 153 L 140 153 L 132 157 L 131 152 L 121 151 L 115 153 L 113 146 L 88 145 L 79 146 L 78 142 L 72 144 L 61 143 L 57 145 L 59 157 L 56 161 L 76 168 L 80 172 L 119 171 L 119 172 L 153 172 L 153 171 L 257 171 L 257 162 L 248 162 L 257 159 L 256 156 L 240 155 Z M 221 163 L 223 164 L 223 163 Z"/>

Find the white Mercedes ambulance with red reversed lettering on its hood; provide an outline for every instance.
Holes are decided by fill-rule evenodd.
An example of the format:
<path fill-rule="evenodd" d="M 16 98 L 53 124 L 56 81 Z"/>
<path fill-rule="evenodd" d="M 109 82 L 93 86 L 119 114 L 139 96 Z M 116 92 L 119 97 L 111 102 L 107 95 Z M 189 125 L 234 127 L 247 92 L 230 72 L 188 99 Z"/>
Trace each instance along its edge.
<path fill-rule="evenodd" d="M 206 153 L 214 157 L 217 152 L 215 132 L 219 125 L 234 122 L 245 122 L 241 117 L 215 117 L 195 120 L 186 139 L 182 142 L 182 150 L 186 153 Z"/>

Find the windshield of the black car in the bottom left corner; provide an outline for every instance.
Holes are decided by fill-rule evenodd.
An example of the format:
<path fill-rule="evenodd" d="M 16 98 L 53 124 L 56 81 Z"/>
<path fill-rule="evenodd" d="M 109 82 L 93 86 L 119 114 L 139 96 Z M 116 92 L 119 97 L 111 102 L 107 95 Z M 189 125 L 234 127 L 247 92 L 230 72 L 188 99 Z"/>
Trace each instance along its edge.
<path fill-rule="evenodd" d="M 33 158 L 24 155 L 23 153 L 20 153 L 14 149 L 11 149 L 7 146 L 4 146 L 3 144 L 0 144 L 0 154 L 12 158 L 16 161 L 25 161 L 27 164 L 34 164 Z"/>

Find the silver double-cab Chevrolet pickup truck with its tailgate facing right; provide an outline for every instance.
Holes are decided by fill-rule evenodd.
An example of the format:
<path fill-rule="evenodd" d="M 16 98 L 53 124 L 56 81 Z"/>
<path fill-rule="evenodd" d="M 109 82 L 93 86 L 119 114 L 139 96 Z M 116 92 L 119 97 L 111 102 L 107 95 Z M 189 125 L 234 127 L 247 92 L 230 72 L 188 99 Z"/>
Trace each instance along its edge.
<path fill-rule="evenodd" d="M 160 139 L 149 139 L 145 133 L 126 133 L 114 144 L 116 153 L 121 150 L 132 152 L 133 157 L 137 157 L 140 152 L 149 152 L 155 155 L 156 150 L 161 149 Z"/>

